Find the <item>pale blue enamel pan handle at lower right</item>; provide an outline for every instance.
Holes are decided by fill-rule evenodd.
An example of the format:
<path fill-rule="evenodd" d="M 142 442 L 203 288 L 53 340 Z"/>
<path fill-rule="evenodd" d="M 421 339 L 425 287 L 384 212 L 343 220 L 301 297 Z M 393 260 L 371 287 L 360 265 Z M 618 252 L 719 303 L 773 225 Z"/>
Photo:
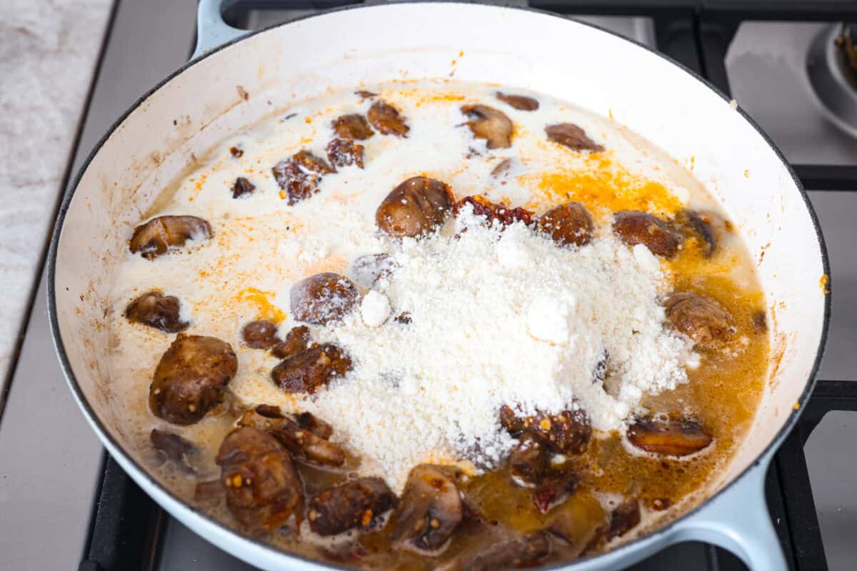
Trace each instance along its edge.
<path fill-rule="evenodd" d="M 719 496 L 674 526 L 672 543 L 704 541 L 740 557 L 752 571 L 788 569 L 764 498 L 771 454 Z"/>

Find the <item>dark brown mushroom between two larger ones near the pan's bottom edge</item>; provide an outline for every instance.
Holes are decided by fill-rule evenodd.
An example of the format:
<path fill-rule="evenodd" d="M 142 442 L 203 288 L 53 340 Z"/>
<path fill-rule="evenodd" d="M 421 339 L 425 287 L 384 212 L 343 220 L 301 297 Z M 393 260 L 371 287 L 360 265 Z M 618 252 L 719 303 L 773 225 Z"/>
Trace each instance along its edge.
<path fill-rule="evenodd" d="M 393 492 L 380 478 L 354 479 L 310 498 L 307 520 L 319 535 L 336 535 L 353 527 L 369 527 L 375 516 L 393 506 Z"/>

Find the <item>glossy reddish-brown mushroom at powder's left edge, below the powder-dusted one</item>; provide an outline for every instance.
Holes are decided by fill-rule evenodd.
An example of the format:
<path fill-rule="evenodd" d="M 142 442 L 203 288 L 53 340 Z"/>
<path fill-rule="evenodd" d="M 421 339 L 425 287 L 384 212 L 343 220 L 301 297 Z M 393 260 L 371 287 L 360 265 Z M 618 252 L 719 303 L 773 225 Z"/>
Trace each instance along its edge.
<path fill-rule="evenodd" d="M 290 393 L 315 393 L 333 378 L 351 371 L 351 358 L 333 343 L 314 345 L 273 368 L 271 378 Z"/>

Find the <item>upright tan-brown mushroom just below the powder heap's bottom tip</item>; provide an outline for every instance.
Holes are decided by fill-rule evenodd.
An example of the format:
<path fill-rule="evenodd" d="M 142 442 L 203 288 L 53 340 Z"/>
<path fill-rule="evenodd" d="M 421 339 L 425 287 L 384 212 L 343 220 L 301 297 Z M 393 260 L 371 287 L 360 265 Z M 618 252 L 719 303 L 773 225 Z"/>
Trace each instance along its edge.
<path fill-rule="evenodd" d="M 393 513 L 393 542 L 435 550 L 452 537 L 463 514 L 455 479 L 439 466 L 411 468 L 399 506 Z"/>

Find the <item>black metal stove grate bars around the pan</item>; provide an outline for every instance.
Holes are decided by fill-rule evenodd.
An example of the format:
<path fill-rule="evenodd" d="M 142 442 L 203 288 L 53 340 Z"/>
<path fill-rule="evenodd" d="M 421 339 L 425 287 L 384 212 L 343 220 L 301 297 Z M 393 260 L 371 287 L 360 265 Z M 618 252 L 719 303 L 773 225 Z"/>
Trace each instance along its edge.
<path fill-rule="evenodd" d="M 239 22 L 249 9 L 330 9 L 342 0 L 251 0 L 232 3 L 225 16 Z M 725 57 L 741 22 L 857 21 L 854 0 L 530 0 L 530 7 L 563 15 L 644 15 L 659 51 L 729 94 Z M 857 166 L 793 164 L 807 191 L 857 192 Z M 771 462 L 765 495 L 789 567 L 826 571 L 818 512 L 804 455 L 813 429 L 830 411 L 857 411 L 857 381 L 818 381 L 798 425 Z M 81 571 L 155 569 L 167 518 L 105 453 L 104 478 L 93 506 Z M 707 547 L 712 571 L 746 569 L 728 551 Z M 633 569 L 633 568 L 632 568 Z"/>

